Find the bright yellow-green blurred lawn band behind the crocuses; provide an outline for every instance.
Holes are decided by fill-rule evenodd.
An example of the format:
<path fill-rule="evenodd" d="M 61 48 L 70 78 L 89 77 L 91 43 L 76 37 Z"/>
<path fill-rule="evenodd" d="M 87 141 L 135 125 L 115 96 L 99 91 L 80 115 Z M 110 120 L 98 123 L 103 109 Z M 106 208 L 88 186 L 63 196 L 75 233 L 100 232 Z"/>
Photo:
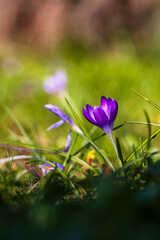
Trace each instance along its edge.
<path fill-rule="evenodd" d="M 12 58 L 8 69 L 4 68 L 6 58 Z M 97 54 L 85 55 L 75 60 L 74 56 L 62 55 L 56 57 L 25 57 L 24 55 L 6 56 L 2 58 L 0 95 L 1 106 L 7 105 L 12 109 L 24 128 L 34 138 L 36 132 L 43 132 L 44 139 L 54 141 L 57 136 L 62 136 L 58 131 L 46 132 L 45 129 L 55 122 L 55 117 L 47 114 L 43 105 L 50 103 L 68 111 L 65 101 L 60 101 L 57 96 L 47 95 L 43 92 L 43 79 L 53 74 L 57 69 L 65 69 L 68 76 L 68 93 L 71 104 L 75 104 L 82 116 L 82 107 L 89 103 L 100 104 L 98 101 L 101 95 L 115 98 L 119 104 L 117 123 L 123 121 L 145 120 L 142 109 L 147 109 L 151 120 L 158 123 L 159 112 L 154 111 L 151 106 L 138 99 L 131 92 L 134 88 L 155 102 L 159 101 L 159 78 L 160 70 L 154 61 L 146 62 L 135 55 Z M 14 72 L 14 65 L 18 62 L 19 68 Z M 13 65 L 13 66 L 12 66 Z M 18 68 L 18 66 L 17 66 Z M 9 72 L 9 74 L 8 74 Z M 13 72 L 13 74 L 12 74 Z M 153 84 L 154 81 L 154 84 Z M 154 94 L 152 94 L 154 93 Z M 7 121 L 7 122 L 6 122 Z M 13 129 L 12 123 L 1 108 L 1 122 L 3 129 Z M 5 124 L 6 123 L 6 124 Z M 89 125 L 87 124 L 88 129 Z M 125 132 L 125 128 L 123 129 Z M 133 131 L 133 129 L 131 130 Z M 127 129 L 128 132 L 128 129 Z M 142 133 L 143 134 L 143 133 Z M 7 135 L 3 133 L 3 136 Z M 42 136 L 37 136 L 43 141 Z M 62 140 L 62 139 L 61 139 Z M 49 140 L 48 140 L 49 141 Z M 45 142 L 45 140 L 44 140 Z M 58 142 L 58 141 L 57 141 Z M 56 143 L 55 143 L 56 144 Z"/>

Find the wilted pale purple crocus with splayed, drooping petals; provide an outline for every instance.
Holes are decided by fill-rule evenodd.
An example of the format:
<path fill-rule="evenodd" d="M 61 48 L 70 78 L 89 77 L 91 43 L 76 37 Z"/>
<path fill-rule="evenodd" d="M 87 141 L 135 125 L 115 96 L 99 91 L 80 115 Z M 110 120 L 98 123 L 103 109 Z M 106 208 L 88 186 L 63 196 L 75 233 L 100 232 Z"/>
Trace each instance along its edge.
<path fill-rule="evenodd" d="M 56 116 L 61 118 L 60 121 L 51 125 L 47 130 L 51 130 L 51 129 L 60 127 L 63 123 L 68 123 L 72 127 L 72 129 L 74 129 L 75 131 L 77 131 L 79 133 L 82 133 L 82 131 L 73 122 L 73 120 L 68 115 L 66 115 L 59 107 L 51 105 L 51 104 L 47 104 L 47 105 L 44 105 L 44 108 L 48 109 L 49 111 L 54 113 Z M 65 146 L 65 150 L 64 150 L 65 152 L 68 151 L 70 144 L 71 144 L 71 131 L 69 132 L 69 134 L 67 136 L 66 146 Z"/>

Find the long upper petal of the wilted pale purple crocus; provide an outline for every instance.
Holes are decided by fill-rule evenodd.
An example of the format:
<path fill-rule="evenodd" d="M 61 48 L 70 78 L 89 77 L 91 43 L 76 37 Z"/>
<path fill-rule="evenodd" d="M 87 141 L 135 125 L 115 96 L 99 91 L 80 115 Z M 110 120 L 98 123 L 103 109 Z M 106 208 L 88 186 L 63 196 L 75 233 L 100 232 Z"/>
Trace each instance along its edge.
<path fill-rule="evenodd" d="M 49 111 L 54 113 L 56 116 L 60 117 L 64 122 L 67 122 L 71 126 L 74 124 L 72 119 L 68 117 L 59 107 L 51 104 L 46 104 L 44 105 L 44 108 L 48 109 Z"/>

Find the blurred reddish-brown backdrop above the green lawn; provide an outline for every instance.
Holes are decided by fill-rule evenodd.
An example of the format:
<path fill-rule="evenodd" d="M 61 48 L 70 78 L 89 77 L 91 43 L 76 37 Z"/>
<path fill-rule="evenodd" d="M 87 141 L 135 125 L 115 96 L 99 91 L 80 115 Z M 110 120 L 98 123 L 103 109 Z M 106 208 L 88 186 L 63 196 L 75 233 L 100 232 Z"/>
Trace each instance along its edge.
<path fill-rule="evenodd" d="M 67 40 L 104 46 L 117 38 L 150 41 L 158 0 L 0 0 L 0 43 L 54 48 Z"/>

